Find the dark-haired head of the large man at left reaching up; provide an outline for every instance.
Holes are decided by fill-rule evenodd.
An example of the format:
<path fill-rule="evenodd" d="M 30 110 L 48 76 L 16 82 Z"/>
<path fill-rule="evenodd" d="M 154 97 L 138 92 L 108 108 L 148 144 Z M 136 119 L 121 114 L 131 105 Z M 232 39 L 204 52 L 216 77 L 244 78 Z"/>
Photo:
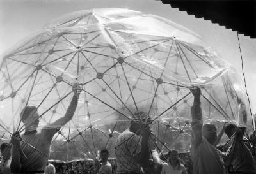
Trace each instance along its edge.
<path fill-rule="evenodd" d="M 25 124 L 25 127 L 38 127 L 39 115 L 36 106 L 26 106 L 20 113 L 20 120 Z"/>

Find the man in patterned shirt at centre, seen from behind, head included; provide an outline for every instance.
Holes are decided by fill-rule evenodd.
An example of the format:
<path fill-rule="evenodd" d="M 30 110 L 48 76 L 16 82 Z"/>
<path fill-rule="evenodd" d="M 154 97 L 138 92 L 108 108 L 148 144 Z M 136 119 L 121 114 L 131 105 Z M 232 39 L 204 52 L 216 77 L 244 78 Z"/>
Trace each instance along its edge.
<path fill-rule="evenodd" d="M 143 173 L 142 168 L 150 166 L 149 124 L 152 123 L 148 113 L 138 111 L 131 119 L 129 129 L 116 138 L 115 156 L 116 174 Z"/>

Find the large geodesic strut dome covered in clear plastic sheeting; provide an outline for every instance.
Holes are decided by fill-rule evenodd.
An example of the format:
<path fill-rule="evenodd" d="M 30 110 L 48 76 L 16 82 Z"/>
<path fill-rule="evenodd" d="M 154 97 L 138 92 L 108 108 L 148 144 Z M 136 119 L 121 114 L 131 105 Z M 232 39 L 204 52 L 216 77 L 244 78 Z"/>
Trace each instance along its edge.
<path fill-rule="evenodd" d="M 74 83 L 83 86 L 74 117 L 52 140 L 51 159 L 97 160 L 103 147 L 113 156 L 116 137 L 138 111 L 154 120 L 159 151 L 188 152 L 192 85 L 202 89 L 205 122 L 219 129 L 223 122 L 253 127 L 236 72 L 198 34 L 155 15 L 78 11 L 45 25 L 2 58 L 1 141 L 24 132 L 25 106 L 36 106 L 44 127 L 65 115 Z M 237 99 L 246 104 L 247 118 Z"/>

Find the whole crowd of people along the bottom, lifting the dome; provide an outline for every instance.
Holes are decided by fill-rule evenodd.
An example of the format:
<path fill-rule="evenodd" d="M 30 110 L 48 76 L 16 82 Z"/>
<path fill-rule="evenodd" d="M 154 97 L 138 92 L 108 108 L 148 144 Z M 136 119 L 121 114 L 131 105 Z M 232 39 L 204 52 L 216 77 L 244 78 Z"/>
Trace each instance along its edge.
<path fill-rule="evenodd" d="M 243 142 L 246 127 L 224 124 L 220 134 L 217 135 L 218 130 L 214 124 L 203 124 L 199 87 L 191 87 L 194 101 L 191 107 L 192 131 L 189 159 L 182 160 L 182 155 L 175 150 L 170 150 L 166 156 L 159 154 L 156 148 L 156 136 L 150 130 L 152 118 L 148 113 L 138 111 L 132 114 L 129 128 L 116 138 L 115 160 L 112 163 L 108 160 L 108 149 L 102 149 L 100 162 L 77 162 L 55 168 L 48 162 L 50 145 L 54 134 L 74 115 L 81 92 L 79 85 L 75 84 L 73 91 L 74 96 L 65 116 L 43 127 L 40 131 L 37 130 L 39 114 L 36 107 L 26 106 L 22 110 L 20 116 L 25 126 L 25 133 L 12 135 L 12 150 L 10 143 L 1 145 L 4 159 L 0 164 L 1 173 L 256 173 L 252 151 Z M 244 103 L 241 99 L 237 99 L 237 102 L 241 105 L 241 118 L 246 122 Z M 229 141 L 226 144 L 227 150 L 221 151 L 216 145 L 224 133 L 227 134 Z"/>

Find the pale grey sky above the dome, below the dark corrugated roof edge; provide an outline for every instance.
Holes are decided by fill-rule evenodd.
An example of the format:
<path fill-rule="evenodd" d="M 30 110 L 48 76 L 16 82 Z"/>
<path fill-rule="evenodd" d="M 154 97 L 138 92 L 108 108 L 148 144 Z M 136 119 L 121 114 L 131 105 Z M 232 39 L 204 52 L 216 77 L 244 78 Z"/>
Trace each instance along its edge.
<path fill-rule="evenodd" d="M 54 18 L 91 8 L 129 8 L 168 18 L 202 36 L 207 46 L 214 48 L 243 78 L 236 32 L 155 0 L 0 0 L 0 59 L 13 45 L 40 31 Z M 243 34 L 239 39 L 252 113 L 256 113 L 256 39 Z"/>

